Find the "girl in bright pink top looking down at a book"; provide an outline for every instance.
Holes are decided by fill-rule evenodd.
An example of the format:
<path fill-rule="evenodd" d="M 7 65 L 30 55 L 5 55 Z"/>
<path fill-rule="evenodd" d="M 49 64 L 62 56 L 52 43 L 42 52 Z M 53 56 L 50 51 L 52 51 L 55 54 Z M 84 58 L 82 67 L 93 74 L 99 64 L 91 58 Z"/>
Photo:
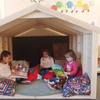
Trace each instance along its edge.
<path fill-rule="evenodd" d="M 66 64 L 64 67 L 65 74 L 68 75 L 68 79 L 76 77 L 78 71 L 78 64 L 76 62 L 76 54 L 73 50 L 69 50 L 66 54 Z"/>

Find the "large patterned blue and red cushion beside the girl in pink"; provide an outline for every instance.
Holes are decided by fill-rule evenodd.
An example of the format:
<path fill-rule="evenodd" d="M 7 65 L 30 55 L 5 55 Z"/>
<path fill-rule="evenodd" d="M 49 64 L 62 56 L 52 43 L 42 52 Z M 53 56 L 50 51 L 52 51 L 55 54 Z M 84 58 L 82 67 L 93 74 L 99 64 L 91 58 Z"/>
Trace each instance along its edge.
<path fill-rule="evenodd" d="M 78 95 L 88 95 L 91 92 L 90 79 L 87 74 L 68 80 L 63 86 L 63 96 L 69 97 Z"/>

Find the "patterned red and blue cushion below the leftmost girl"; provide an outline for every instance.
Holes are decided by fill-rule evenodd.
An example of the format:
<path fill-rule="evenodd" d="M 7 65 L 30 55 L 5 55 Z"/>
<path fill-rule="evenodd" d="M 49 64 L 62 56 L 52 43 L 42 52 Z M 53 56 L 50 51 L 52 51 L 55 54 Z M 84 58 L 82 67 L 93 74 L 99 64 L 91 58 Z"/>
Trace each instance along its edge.
<path fill-rule="evenodd" d="M 16 82 L 10 79 L 0 78 L 0 95 L 14 96 Z"/>

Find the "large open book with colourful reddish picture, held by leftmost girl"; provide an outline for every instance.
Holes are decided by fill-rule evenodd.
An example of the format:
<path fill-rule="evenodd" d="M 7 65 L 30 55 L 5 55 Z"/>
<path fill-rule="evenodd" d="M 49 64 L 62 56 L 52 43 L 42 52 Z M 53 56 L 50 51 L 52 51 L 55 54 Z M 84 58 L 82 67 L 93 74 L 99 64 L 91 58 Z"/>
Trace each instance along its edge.
<path fill-rule="evenodd" d="M 27 78 L 29 62 L 27 61 L 12 61 L 11 62 L 10 78 Z"/>

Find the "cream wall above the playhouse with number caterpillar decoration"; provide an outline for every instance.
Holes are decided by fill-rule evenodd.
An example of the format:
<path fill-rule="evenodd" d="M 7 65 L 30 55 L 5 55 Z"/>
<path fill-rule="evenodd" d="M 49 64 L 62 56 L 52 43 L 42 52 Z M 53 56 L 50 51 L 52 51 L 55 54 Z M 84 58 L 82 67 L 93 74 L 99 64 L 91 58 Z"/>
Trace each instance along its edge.
<path fill-rule="evenodd" d="M 36 1 L 38 3 L 39 0 L 0 0 L 0 9 L 1 10 L 1 18 L 4 18 L 5 16 L 9 16 L 15 12 L 20 11 L 21 9 L 24 9 L 30 5 L 35 4 Z M 56 3 L 59 0 L 40 0 L 41 2 L 39 4 L 44 5 L 46 7 L 55 9 Z M 62 4 L 66 5 L 66 3 L 69 0 L 60 0 L 62 2 Z M 75 17 L 77 19 L 80 19 L 82 21 L 85 21 L 87 23 L 90 24 L 94 24 L 95 26 L 100 27 L 100 1 L 99 0 L 70 0 L 73 3 L 73 7 L 70 8 L 70 6 L 66 7 L 63 6 L 60 8 L 61 4 L 58 4 L 57 7 L 57 11 L 61 12 L 64 14 L 67 14 L 69 16 Z M 78 1 L 82 1 L 83 4 L 88 4 L 89 5 L 89 12 L 86 10 L 84 12 L 83 8 L 81 7 L 81 4 L 78 4 L 77 6 L 77 2 Z M 79 7 L 80 6 L 80 7 Z M 85 8 L 88 8 L 85 7 Z M 68 10 L 68 12 L 66 12 Z M 74 10 L 74 12 L 72 13 L 72 10 Z M 78 11 L 76 13 L 76 11 Z M 94 22 L 94 23 L 93 23 Z M 99 46 L 100 46 L 100 35 L 99 35 Z M 100 50 L 99 50 L 100 52 Z M 100 57 L 100 54 L 98 55 Z"/>

